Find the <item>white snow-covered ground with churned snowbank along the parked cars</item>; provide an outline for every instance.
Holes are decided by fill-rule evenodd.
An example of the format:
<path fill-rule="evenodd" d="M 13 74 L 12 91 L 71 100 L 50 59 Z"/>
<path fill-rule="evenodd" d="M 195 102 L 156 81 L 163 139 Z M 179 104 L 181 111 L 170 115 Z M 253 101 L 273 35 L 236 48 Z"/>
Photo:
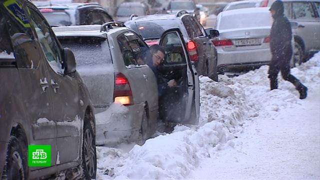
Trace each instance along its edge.
<path fill-rule="evenodd" d="M 303 100 L 280 74 L 270 91 L 267 69 L 200 77 L 199 125 L 98 146 L 96 179 L 320 179 L 320 52 L 291 69 Z"/>

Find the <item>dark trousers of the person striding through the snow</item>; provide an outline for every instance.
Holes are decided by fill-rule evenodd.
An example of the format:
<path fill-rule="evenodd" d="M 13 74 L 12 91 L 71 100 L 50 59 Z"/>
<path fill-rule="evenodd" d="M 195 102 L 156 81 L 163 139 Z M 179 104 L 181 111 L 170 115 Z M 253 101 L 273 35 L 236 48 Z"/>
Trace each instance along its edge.
<path fill-rule="evenodd" d="M 268 70 L 271 90 L 278 87 L 277 76 L 279 71 L 281 71 L 284 80 L 291 82 L 295 87 L 299 85 L 299 79 L 290 74 L 290 57 L 272 56 Z"/>

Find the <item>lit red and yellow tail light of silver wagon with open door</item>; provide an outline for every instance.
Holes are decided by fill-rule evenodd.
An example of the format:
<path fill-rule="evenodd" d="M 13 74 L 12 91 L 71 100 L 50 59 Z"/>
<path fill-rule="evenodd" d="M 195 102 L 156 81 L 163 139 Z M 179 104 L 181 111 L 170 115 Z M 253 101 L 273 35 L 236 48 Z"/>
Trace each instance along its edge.
<path fill-rule="evenodd" d="M 115 103 L 131 105 L 132 91 L 128 79 L 122 74 L 115 75 L 113 99 Z"/>

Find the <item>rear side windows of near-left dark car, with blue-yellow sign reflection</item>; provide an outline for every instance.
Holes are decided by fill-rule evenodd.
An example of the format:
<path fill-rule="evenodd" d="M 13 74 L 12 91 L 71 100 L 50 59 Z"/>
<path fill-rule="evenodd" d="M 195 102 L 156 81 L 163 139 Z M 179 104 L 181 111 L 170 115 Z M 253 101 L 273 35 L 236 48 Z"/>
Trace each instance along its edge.
<path fill-rule="evenodd" d="M 15 57 L 17 67 L 37 68 L 39 64 L 38 51 L 25 10 L 18 1 L 6 2 L 3 2 L 4 8 L 1 7 L 0 11 L 3 15 L 0 19 L 0 34 L 3 36 L 0 44 L 0 56 L 6 60 L 8 58 L 13 60 Z"/>

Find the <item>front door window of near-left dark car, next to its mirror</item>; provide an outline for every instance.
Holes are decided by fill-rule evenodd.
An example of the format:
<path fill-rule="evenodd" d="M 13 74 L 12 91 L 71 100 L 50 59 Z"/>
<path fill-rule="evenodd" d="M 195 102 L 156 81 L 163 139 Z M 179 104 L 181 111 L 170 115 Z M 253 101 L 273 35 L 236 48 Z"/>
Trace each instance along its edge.
<path fill-rule="evenodd" d="M 55 72 L 63 74 L 60 53 L 58 50 L 59 48 L 53 33 L 50 30 L 50 26 L 45 23 L 45 21 L 33 8 L 29 8 L 29 12 L 31 17 L 31 25 L 34 27 L 38 36 L 46 60 Z"/>

